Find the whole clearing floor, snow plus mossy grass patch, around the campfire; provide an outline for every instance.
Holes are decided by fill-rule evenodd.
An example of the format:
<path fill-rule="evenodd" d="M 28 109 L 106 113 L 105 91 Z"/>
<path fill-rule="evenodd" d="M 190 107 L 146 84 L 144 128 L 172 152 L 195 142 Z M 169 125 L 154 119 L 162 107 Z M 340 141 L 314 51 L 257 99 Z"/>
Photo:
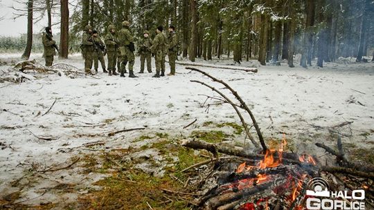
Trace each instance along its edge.
<path fill-rule="evenodd" d="M 33 56 L 43 63 L 41 55 Z M 12 57 L 19 55 L 0 55 L 6 62 Z M 80 55 L 55 63 L 83 67 Z M 285 135 L 288 151 L 333 162 L 314 143 L 334 147 L 339 133 L 348 158 L 374 164 L 374 63 L 339 59 L 325 65 L 288 68 L 253 60 L 240 66 L 258 73 L 197 68 L 238 91 L 268 144 Z M 95 77 L 35 73 L 34 80 L 0 83 L 0 207 L 188 209 L 188 198 L 162 189 L 183 191 L 187 176 L 180 171 L 209 156 L 180 141 L 242 146 L 242 126 L 229 104 L 208 100 L 211 105 L 202 106 L 205 95 L 215 94 L 190 79 L 222 87 L 201 74 L 177 65 L 175 77 L 156 79 L 137 74 L 139 66 L 136 57 L 136 79 L 109 77 L 99 68 Z M 145 129 L 108 136 L 124 128 Z"/>

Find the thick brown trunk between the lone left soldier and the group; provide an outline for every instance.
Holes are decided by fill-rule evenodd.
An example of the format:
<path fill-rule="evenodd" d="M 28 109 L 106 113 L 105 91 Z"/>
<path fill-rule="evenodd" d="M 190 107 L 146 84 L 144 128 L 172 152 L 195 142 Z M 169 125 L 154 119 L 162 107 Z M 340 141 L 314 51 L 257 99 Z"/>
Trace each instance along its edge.
<path fill-rule="evenodd" d="M 69 54 L 69 0 L 61 0 L 60 57 Z"/>

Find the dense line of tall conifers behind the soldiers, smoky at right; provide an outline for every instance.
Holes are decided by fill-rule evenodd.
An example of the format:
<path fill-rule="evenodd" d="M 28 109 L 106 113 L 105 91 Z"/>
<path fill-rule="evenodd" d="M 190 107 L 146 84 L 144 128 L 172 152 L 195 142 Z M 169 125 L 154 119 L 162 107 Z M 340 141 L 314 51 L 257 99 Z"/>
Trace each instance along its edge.
<path fill-rule="evenodd" d="M 124 20 L 132 23 L 138 37 L 143 30 L 154 35 L 159 25 L 175 25 L 179 53 L 191 61 L 256 58 L 267 65 L 287 59 L 293 67 L 294 55 L 301 54 L 300 65 L 306 68 L 314 59 L 322 67 L 338 57 L 362 61 L 371 54 L 367 50 L 374 51 L 371 0 L 80 0 L 70 2 L 70 19 L 69 1 L 55 1 L 28 0 L 28 32 L 33 29 L 33 8 L 46 11 L 48 26 L 53 25 L 51 14 L 59 13 L 62 57 L 79 44 L 87 24 L 103 34 L 109 24 L 121 28 Z M 29 51 L 26 47 L 26 57 Z"/>

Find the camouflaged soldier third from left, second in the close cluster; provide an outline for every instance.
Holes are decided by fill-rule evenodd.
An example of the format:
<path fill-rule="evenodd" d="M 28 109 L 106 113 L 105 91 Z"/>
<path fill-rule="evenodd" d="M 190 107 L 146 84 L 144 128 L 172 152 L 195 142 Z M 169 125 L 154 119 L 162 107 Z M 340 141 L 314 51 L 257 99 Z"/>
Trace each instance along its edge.
<path fill-rule="evenodd" d="M 92 54 L 92 57 L 94 59 L 95 72 L 98 73 L 98 61 L 100 61 L 101 68 L 103 68 L 103 73 L 108 73 L 104 60 L 107 50 L 105 49 L 103 40 L 101 40 L 98 36 L 97 30 L 92 31 L 92 41 L 94 41 L 94 53 Z"/>

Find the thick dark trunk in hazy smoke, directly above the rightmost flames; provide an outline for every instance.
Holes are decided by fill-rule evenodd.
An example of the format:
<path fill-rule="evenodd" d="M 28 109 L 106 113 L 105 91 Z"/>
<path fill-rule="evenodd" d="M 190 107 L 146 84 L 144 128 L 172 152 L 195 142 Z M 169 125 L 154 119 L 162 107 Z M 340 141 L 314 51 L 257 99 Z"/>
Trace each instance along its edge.
<path fill-rule="evenodd" d="M 313 46 L 313 32 L 312 26 L 314 25 L 314 0 L 306 0 L 306 21 L 305 21 L 305 32 L 303 40 L 303 52 L 301 54 L 300 66 L 307 68 L 307 61 L 312 66 L 312 46 Z"/>

